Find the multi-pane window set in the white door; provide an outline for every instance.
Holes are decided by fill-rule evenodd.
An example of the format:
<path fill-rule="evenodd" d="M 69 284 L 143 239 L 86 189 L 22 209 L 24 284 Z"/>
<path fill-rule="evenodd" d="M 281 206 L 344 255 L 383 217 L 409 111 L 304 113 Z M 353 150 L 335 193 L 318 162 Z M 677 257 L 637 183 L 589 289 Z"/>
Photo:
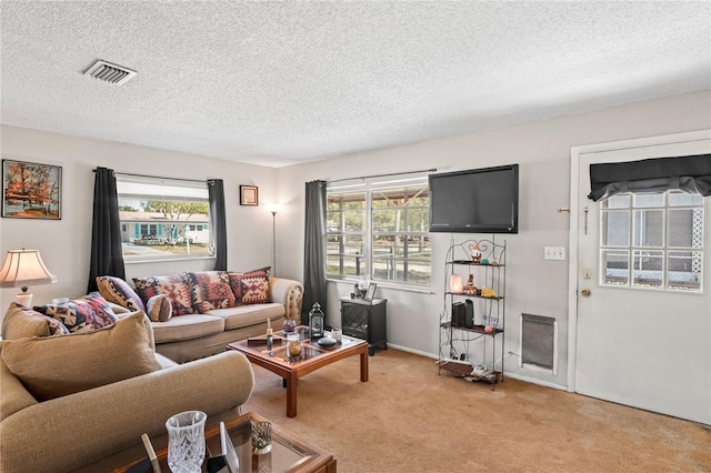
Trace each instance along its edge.
<path fill-rule="evenodd" d="M 602 284 L 701 292 L 703 198 L 623 193 L 602 202 Z"/>

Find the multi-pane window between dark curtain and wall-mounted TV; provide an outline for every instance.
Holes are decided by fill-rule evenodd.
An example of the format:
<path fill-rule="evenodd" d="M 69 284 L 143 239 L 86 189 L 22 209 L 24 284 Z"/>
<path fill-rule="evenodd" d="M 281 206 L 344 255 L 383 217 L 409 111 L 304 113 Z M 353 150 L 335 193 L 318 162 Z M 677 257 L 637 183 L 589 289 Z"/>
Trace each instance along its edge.
<path fill-rule="evenodd" d="M 327 275 L 430 285 L 427 181 L 362 191 L 328 190 Z"/>

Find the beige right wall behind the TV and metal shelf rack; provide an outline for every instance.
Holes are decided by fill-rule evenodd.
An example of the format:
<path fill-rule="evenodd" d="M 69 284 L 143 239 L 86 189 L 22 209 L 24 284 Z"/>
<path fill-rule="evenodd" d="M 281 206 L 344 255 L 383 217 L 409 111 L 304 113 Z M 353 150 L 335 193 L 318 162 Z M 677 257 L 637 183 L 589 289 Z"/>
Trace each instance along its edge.
<path fill-rule="evenodd" d="M 512 369 L 521 378 L 565 386 L 568 262 L 544 261 L 543 246 L 568 246 L 569 243 L 569 214 L 560 213 L 558 209 L 570 203 L 571 147 L 710 128 L 711 91 L 703 91 L 279 169 L 279 199 L 288 203 L 288 211 L 279 215 L 278 224 L 289 228 L 292 236 L 280 239 L 278 251 L 296 256 L 282 258 L 286 261 L 280 264 L 292 274 L 300 274 L 303 268 L 301 209 L 306 181 L 430 168 L 444 172 L 520 163 L 520 231 L 517 235 L 505 236 L 507 351 L 519 352 L 521 313 L 555 318 L 559 324 L 558 375 L 519 369 L 514 356 L 505 359 L 507 370 Z M 443 262 L 450 236 L 432 234 L 431 293 L 378 290 L 378 296 L 388 299 L 388 338 L 392 344 L 437 355 L 439 314 L 444 305 Z M 329 283 L 329 323 L 340 323 L 338 298 L 350 292 L 350 283 Z"/>

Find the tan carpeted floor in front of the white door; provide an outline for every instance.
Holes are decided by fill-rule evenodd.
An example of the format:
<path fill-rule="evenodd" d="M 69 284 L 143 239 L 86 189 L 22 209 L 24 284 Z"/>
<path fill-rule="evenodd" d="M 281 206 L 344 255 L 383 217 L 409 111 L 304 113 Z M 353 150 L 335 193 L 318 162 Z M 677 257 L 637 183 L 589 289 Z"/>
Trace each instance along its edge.
<path fill-rule="evenodd" d="M 254 366 L 254 411 L 331 452 L 350 472 L 711 472 L 711 429 L 507 379 L 491 391 L 434 361 L 378 351 L 370 381 L 351 358 L 299 381 Z M 683 401 L 681 401 L 683 402 Z"/>

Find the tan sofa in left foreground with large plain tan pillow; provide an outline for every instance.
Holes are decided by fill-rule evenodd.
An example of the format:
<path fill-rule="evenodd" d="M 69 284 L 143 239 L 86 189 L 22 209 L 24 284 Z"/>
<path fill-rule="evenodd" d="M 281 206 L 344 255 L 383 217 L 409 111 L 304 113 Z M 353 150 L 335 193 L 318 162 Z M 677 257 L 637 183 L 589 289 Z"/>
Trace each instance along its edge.
<path fill-rule="evenodd" d="M 28 311 L 16 311 L 9 321 L 11 310 L 0 342 L 4 473 L 111 471 L 144 456 L 142 433 L 156 450 L 164 447 L 164 424 L 171 415 L 204 411 L 211 427 L 239 415 L 251 395 L 253 373 L 242 354 L 223 352 L 179 365 L 152 351 L 150 323 L 142 313 L 124 314 L 90 333 L 41 336 L 50 334 L 47 321 L 37 313 L 26 316 Z M 124 352 L 126 346 L 134 352 Z M 126 366 L 139 359 L 144 374 L 44 400 L 52 395 L 48 386 L 67 389 L 72 376 L 80 383 L 122 370 L 119 378 L 126 376 Z"/>

